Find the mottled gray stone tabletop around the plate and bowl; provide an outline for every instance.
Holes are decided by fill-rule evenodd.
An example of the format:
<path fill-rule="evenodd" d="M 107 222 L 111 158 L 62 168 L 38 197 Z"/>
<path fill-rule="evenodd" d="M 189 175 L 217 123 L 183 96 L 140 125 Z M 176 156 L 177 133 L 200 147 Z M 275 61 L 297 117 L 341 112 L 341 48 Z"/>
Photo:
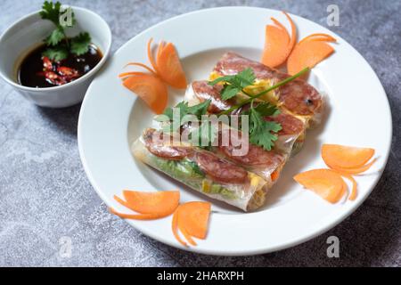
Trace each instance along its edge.
<path fill-rule="evenodd" d="M 401 1 L 63 1 L 98 12 L 110 23 L 113 51 L 144 28 L 177 14 L 222 5 L 286 10 L 331 28 L 372 64 L 389 96 L 394 134 L 389 164 L 372 195 L 346 221 L 295 248 L 263 256 L 202 256 L 170 248 L 111 216 L 81 166 L 79 106 L 38 108 L 0 82 L 0 265 L 12 266 L 400 266 L 401 265 Z M 0 32 L 41 0 L 2 1 Z M 0 60 L 5 54 L 0 54 Z M 347 66 L 344 66 L 346 69 Z M 361 102 L 363 108 L 364 102 Z M 372 114 L 381 116 L 381 114 Z M 374 132 L 374 130 L 372 130 Z M 340 238 L 340 258 L 326 256 L 326 239 Z M 70 237 L 70 258 L 60 255 Z"/>

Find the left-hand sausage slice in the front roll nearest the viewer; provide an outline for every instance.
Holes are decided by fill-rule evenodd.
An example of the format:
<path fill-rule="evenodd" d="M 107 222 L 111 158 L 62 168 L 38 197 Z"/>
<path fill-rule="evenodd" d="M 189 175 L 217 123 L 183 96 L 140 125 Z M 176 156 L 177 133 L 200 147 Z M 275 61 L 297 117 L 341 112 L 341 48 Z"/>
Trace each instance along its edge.
<path fill-rule="evenodd" d="M 192 147 L 172 145 L 173 139 L 170 135 L 152 128 L 143 133 L 143 141 L 148 151 L 163 159 L 179 160 L 193 153 Z"/>

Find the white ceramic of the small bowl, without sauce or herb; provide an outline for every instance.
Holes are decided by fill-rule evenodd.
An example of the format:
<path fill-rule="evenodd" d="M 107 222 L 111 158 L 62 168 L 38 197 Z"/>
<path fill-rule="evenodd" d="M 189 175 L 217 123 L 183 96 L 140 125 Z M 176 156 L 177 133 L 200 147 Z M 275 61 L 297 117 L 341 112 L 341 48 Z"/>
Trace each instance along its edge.
<path fill-rule="evenodd" d="M 66 85 L 35 88 L 22 86 L 17 82 L 17 71 L 24 56 L 40 45 L 54 28 L 52 22 L 40 18 L 39 11 L 17 20 L 0 37 L 0 76 L 25 98 L 39 106 L 63 108 L 81 102 L 94 74 L 101 69 L 109 56 L 111 31 L 107 22 L 98 14 L 84 8 L 72 9 L 77 24 L 68 28 L 67 36 L 76 36 L 81 31 L 89 32 L 92 42 L 102 51 L 103 57 L 94 69 Z"/>

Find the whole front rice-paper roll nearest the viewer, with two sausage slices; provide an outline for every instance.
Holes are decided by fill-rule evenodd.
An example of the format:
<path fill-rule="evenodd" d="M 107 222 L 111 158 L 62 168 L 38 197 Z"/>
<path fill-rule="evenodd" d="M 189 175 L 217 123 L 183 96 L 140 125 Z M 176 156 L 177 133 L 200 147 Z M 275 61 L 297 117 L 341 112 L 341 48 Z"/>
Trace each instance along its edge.
<path fill-rule="evenodd" d="M 260 208 L 265 202 L 266 181 L 262 177 L 154 128 L 143 131 L 132 152 L 136 159 L 193 190 L 244 211 Z"/>

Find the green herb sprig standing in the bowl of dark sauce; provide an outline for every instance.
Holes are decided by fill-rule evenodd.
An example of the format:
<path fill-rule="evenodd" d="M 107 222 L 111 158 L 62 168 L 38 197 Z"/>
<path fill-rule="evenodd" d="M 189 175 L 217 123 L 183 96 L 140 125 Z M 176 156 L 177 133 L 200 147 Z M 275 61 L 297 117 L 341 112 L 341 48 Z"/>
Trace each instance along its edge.
<path fill-rule="evenodd" d="M 47 49 L 44 55 L 52 61 L 65 60 L 70 53 L 75 55 L 85 54 L 91 44 L 91 37 L 87 32 L 81 32 L 77 37 L 67 37 L 66 28 L 73 27 L 77 22 L 74 12 L 69 9 L 71 8 L 68 8 L 65 12 L 70 15 L 70 21 L 61 20 L 64 12 L 61 11 L 60 2 L 54 4 L 53 2 L 45 1 L 42 5 L 42 11 L 39 12 L 42 19 L 52 21 L 55 26 L 52 33 L 45 38 Z"/>

